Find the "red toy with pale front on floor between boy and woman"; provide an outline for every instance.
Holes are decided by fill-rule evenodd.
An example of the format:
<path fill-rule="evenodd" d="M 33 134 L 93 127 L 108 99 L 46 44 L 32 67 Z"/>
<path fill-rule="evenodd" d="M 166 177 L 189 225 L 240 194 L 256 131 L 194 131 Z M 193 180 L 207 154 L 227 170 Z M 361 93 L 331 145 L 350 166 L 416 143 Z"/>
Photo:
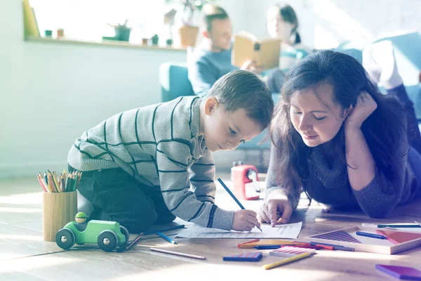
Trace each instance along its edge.
<path fill-rule="evenodd" d="M 232 182 L 234 183 L 234 194 L 242 200 L 256 200 L 260 198 L 257 190 L 246 192 L 246 183 L 252 183 L 250 174 L 255 172 L 256 180 L 259 181 L 258 169 L 253 165 L 239 165 L 231 168 Z M 258 185 L 258 183 L 256 183 Z M 250 195 L 252 194 L 252 195 Z"/>

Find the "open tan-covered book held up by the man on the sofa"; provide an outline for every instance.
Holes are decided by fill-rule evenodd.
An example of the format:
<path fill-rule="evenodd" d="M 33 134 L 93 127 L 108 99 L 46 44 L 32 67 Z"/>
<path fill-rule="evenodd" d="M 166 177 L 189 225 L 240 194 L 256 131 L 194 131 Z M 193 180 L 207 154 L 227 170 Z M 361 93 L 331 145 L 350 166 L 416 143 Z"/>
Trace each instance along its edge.
<path fill-rule="evenodd" d="M 247 60 L 255 61 L 258 67 L 268 70 L 279 67 L 281 39 L 258 40 L 253 34 L 239 32 L 232 48 L 232 65 L 241 67 Z"/>

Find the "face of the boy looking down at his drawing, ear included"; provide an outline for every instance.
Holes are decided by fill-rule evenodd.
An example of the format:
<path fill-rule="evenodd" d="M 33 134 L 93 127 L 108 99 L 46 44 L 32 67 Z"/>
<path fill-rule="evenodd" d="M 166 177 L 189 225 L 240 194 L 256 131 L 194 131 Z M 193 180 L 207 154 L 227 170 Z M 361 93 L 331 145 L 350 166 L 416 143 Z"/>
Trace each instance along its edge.
<path fill-rule="evenodd" d="M 234 150 L 242 141 L 250 141 L 262 132 L 262 126 L 245 110 L 227 112 L 215 97 L 206 100 L 202 124 L 206 147 L 212 152 Z"/>

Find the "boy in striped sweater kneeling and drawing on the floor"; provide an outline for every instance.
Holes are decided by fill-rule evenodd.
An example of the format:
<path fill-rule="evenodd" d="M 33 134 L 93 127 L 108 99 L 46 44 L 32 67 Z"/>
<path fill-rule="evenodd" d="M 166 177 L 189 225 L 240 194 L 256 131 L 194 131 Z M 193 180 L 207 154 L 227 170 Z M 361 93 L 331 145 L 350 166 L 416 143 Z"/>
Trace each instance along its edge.
<path fill-rule="evenodd" d="M 224 230 L 260 226 L 254 211 L 214 204 L 211 152 L 233 150 L 257 136 L 273 107 L 265 82 L 236 70 L 206 98 L 181 97 L 110 117 L 83 133 L 67 158 L 69 170 L 83 171 L 79 211 L 93 210 L 90 219 L 118 221 L 131 233 L 175 216 Z"/>

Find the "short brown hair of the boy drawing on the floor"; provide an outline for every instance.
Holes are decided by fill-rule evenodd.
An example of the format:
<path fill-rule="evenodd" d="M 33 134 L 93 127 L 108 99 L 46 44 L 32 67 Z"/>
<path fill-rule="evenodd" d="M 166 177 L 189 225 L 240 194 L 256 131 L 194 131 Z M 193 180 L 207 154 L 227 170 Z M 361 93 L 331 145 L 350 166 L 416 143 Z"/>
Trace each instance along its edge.
<path fill-rule="evenodd" d="M 274 100 L 269 87 L 258 75 L 247 70 L 234 70 L 213 84 L 206 98 L 214 96 L 229 112 L 242 108 L 262 129 L 269 126 Z"/>

